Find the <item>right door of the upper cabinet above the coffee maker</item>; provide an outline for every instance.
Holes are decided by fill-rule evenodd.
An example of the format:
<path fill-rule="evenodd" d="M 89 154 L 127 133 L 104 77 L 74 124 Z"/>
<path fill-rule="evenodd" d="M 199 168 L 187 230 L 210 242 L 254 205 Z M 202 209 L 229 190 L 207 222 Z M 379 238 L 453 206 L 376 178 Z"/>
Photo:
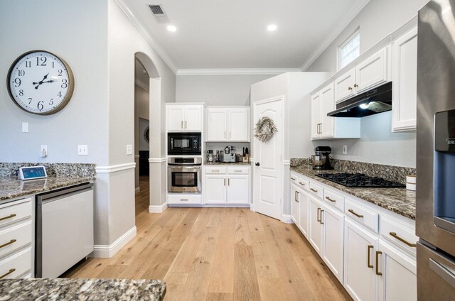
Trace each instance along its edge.
<path fill-rule="evenodd" d="M 250 141 L 250 109 L 229 109 L 228 141 Z"/>

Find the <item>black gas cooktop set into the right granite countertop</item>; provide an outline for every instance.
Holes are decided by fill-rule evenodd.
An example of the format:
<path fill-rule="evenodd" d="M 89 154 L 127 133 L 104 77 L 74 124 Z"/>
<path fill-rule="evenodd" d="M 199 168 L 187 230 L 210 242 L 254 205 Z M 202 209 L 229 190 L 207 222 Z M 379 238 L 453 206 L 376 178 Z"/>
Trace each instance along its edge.
<path fill-rule="evenodd" d="M 382 177 L 368 177 L 363 173 L 319 173 L 323 179 L 336 182 L 346 187 L 396 188 L 406 185 L 384 180 Z"/>

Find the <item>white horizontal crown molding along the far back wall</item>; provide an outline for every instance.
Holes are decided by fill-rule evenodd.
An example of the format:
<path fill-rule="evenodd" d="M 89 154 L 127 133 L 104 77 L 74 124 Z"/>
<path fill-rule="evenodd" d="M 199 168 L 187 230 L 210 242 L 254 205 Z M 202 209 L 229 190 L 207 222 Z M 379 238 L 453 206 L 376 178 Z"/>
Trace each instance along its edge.
<path fill-rule="evenodd" d="M 176 75 L 281 75 L 300 72 L 299 68 L 225 68 L 225 69 L 179 69 Z"/>

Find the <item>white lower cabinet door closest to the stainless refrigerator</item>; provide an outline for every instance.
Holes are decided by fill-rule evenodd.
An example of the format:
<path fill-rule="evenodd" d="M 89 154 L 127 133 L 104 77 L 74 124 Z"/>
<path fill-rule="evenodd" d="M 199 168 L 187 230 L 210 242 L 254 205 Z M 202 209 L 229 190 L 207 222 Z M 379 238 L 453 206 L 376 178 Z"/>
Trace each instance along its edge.
<path fill-rule="evenodd" d="M 379 241 L 378 300 L 417 300 L 417 266 L 415 259 L 394 246 Z"/>

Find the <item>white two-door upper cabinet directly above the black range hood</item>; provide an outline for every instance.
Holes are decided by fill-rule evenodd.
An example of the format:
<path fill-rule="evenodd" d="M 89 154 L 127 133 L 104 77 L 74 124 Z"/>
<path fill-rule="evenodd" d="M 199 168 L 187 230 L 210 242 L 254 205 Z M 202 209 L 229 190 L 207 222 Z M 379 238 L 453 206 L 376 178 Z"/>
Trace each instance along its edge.
<path fill-rule="evenodd" d="M 341 102 L 389 80 L 390 46 L 387 46 L 360 62 L 355 68 L 336 77 L 335 101 Z"/>

